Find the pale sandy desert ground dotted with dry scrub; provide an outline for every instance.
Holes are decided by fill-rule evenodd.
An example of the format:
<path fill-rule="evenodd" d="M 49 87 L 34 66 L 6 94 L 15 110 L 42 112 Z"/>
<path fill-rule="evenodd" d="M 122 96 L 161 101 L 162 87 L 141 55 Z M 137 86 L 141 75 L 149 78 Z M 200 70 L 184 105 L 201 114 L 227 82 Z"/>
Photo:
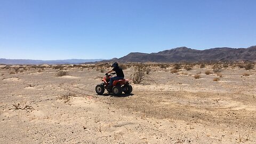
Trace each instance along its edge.
<path fill-rule="evenodd" d="M 0 65 L 0 143 L 256 143 L 255 68 L 145 67 L 115 97 L 95 92 L 109 67 Z"/>

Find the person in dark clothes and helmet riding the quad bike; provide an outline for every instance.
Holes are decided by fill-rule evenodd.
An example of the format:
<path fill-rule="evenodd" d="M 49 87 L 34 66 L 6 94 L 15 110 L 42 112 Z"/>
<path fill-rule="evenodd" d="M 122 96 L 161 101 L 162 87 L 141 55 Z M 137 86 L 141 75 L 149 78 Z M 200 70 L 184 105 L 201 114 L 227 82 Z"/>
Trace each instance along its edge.
<path fill-rule="evenodd" d="M 109 87 L 112 87 L 112 84 L 114 81 L 119 80 L 119 79 L 124 79 L 124 73 L 121 67 L 118 66 L 117 62 L 114 62 L 111 67 L 114 67 L 112 70 L 108 71 L 108 73 L 111 73 L 112 71 L 116 72 L 116 76 L 115 77 L 111 77 L 110 78 L 110 82 L 109 82 Z M 108 75 L 108 73 L 106 73 L 106 75 Z"/>

